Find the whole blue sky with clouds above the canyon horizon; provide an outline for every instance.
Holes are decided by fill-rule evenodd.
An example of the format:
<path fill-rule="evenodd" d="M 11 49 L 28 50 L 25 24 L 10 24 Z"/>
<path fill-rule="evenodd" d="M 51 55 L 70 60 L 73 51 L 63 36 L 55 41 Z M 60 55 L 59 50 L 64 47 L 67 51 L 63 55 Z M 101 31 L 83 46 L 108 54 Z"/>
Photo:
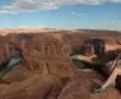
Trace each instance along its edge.
<path fill-rule="evenodd" d="M 0 0 L 2 28 L 121 31 L 121 0 Z"/>

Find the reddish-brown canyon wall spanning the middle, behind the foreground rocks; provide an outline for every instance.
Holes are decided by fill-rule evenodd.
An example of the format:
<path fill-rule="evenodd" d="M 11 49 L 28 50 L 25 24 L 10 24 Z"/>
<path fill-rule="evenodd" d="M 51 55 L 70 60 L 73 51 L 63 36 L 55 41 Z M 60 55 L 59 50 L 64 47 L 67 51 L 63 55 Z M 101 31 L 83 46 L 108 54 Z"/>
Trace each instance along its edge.
<path fill-rule="evenodd" d="M 51 72 L 61 76 L 67 76 L 75 69 L 69 55 L 94 54 L 92 47 L 96 38 L 105 43 L 106 52 L 119 50 L 121 47 L 120 37 L 119 33 L 98 34 L 70 31 L 41 34 L 9 34 L 0 38 L 0 62 L 10 57 L 14 53 L 14 47 L 18 47 L 22 51 L 23 64 L 29 69 L 42 74 Z M 112 55 L 113 57 L 114 55 Z"/>

